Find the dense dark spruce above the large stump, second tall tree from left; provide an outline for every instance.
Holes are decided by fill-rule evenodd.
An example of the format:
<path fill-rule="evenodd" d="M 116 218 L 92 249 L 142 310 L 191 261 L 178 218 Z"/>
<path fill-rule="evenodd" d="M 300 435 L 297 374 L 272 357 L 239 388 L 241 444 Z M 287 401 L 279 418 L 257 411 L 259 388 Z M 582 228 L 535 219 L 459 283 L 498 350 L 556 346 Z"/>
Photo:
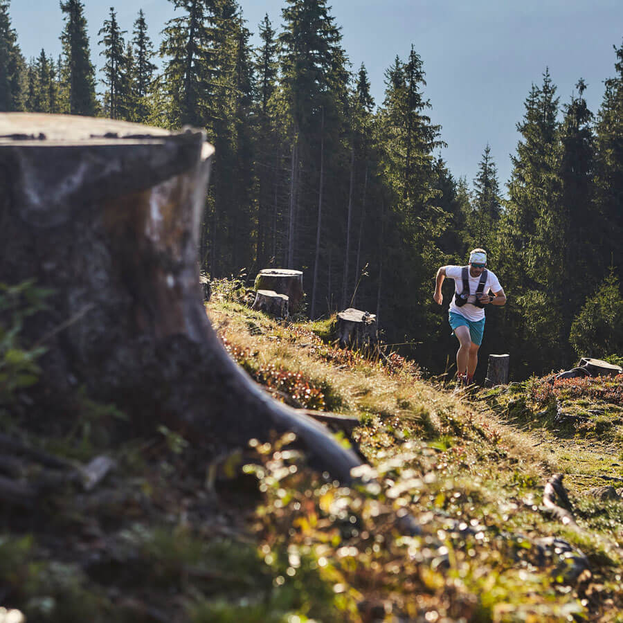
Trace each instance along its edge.
<path fill-rule="evenodd" d="M 72 115 L 94 115 L 98 110 L 95 68 L 91 64 L 84 5 L 80 0 L 61 0 L 60 8 L 65 20 L 60 39 L 68 112 Z"/>

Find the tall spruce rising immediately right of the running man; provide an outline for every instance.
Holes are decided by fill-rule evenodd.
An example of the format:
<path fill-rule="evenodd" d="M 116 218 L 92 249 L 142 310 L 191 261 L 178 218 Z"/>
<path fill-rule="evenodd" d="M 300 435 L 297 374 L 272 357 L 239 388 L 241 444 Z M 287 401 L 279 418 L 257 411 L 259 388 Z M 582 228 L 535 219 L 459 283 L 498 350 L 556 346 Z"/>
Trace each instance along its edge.
<path fill-rule="evenodd" d="M 504 311 L 504 332 L 513 350 L 522 354 L 521 361 L 514 361 L 521 375 L 543 372 L 552 358 L 562 361 L 565 352 L 563 277 L 555 251 L 561 248 L 561 233 L 552 209 L 560 197 L 558 102 L 546 70 L 542 86 L 532 85 L 517 124 L 521 139 L 512 156 L 509 199 L 500 222 L 498 277 L 516 302 Z M 534 344 L 539 349 L 527 352 Z"/>

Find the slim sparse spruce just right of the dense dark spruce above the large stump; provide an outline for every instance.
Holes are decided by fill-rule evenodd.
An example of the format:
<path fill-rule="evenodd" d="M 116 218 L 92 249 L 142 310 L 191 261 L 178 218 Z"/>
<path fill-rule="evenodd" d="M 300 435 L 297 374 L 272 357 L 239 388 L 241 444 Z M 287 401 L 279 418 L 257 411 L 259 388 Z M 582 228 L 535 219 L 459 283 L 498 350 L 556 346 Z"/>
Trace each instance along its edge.
<path fill-rule="evenodd" d="M 100 56 L 106 59 L 102 68 L 104 73 L 102 82 L 108 87 L 104 94 L 104 111 L 112 119 L 122 118 L 120 108 L 123 106 L 124 95 L 127 97 L 127 93 L 123 93 L 122 85 L 125 79 L 124 74 L 127 73 L 124 34 L 125 30 L 119 28 L 117 14 L 111 7 L 109 19 L 104 21 L 104 26 L 98 31 L 98 35 L 103 35 L 98 44 L 104 45 Z"/>

